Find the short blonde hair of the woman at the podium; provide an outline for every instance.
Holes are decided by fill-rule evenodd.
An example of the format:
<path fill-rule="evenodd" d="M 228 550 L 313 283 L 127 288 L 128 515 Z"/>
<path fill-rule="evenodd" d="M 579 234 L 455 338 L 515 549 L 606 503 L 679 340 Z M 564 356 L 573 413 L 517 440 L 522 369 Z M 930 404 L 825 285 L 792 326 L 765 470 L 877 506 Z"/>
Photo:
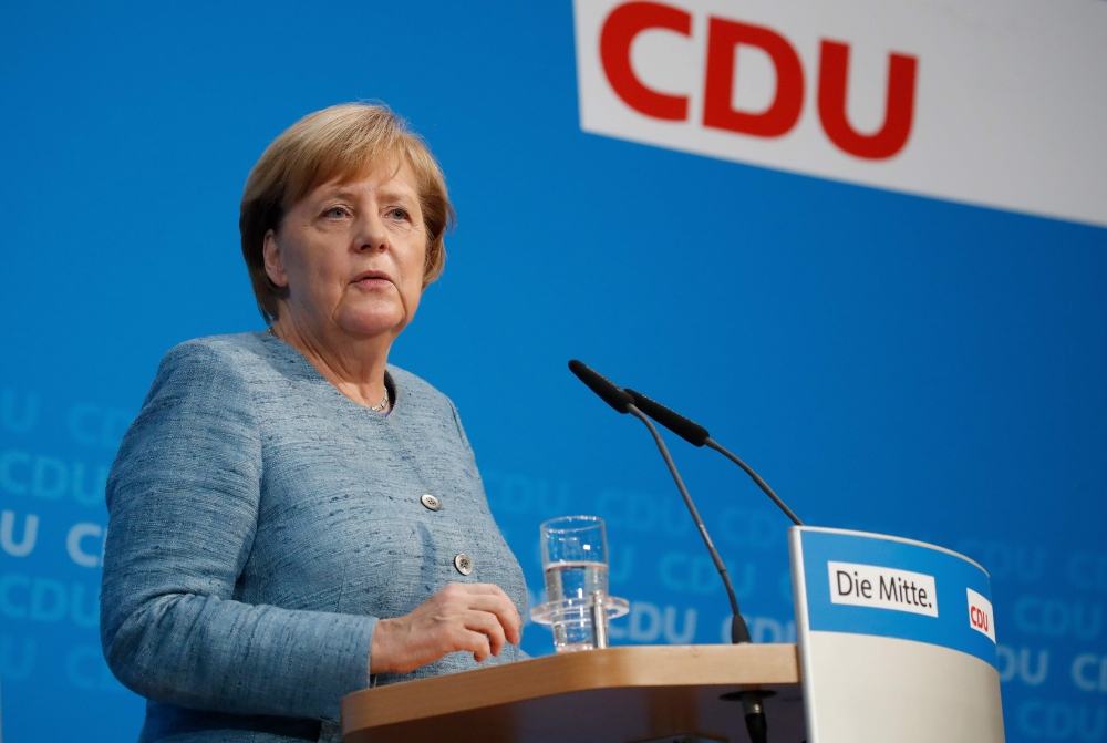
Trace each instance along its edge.
<path fill-rule="evenodd" d="M 254 296 L 267 323 L 288 296 L 266 272 L 265 238 L 279 230 L 288 210 L 317 187 L 335 178 L 354 180 L 382 163 L 406 162 L 415 175 L 427 234 L 423 288 L 442 275 L 445 234 L 456 219 L 446 179 L 422 137 L 385 105 L 343 103 L 308 114 L 266 147 L 254 165 L 239 209 L 242 258 Z"/>

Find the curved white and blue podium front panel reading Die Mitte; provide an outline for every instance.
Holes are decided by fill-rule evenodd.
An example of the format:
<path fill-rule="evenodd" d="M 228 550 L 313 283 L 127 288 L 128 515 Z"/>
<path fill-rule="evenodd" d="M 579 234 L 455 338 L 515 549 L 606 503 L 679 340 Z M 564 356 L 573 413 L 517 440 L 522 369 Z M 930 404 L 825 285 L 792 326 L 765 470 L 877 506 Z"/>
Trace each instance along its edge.
<path fill-rule="evenodd" d="M 876 534 L 788 540 L 809 743 L 1002 743 L 982 567 Z"/>

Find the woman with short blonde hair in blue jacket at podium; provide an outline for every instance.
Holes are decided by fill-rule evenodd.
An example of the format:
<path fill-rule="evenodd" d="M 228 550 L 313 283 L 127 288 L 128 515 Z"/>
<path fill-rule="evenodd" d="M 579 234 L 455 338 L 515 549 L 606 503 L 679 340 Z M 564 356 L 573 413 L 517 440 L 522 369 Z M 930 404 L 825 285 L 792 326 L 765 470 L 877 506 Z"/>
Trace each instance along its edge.
<path fill-rule="evenodd" d="M 269 331 L 169 351 L 107 485 L 101 634 L 143 741 L 339 740 L 339 700 L 521 658 L 526 587 L 451 401 L 387 364 L 442 271 L 434 157 L 382 106 L 255 165 Z"/>

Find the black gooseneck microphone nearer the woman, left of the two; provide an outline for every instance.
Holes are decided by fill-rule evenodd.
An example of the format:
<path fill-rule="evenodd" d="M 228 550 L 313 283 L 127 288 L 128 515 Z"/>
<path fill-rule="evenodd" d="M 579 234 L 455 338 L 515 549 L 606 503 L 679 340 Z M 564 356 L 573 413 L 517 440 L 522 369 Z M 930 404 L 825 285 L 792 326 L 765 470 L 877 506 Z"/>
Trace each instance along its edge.
<path fill-rule="evenodd" d="M 726 588 L 726 598 L 730 599 L 731 610 L 734 612 L 734 617 L 731 620 L 731 642 L 734 644 L 751 642 L 749 628 L 746 626 L 746 620 L 742 618 L 742 612 L 738 610 L 738 597 L 734 594 L 734 586 L 731 585 L 731 577 L 726 572 L 726 565 L 723 563 L 723 558 L 720 557 L 718 550 L 715 549 L 715 545 L 712 543 L 711 536 L 707 534 L 707 527 L 704 526 L 703 519 L 700 518 L 700 512 L 696 510 L 695 503 L 692 502 L 692 495 L 689 493 L 687 487 L 684 486 L 684 481 L 681 478 L 681 474 L 676 469 L 676 464 L 673 462 L 673 457 L 669 453 L 669 447 L 665 446 L 664 440 L 661 437 L 661 434 L 658 433 L 656 426 L 653 425 L 653 422 L 646 416 L 645 413 L 639 410 L 639 407 L 634 404 L 637 401 L 627 390 L 617 386 L 609 379 L 576 359 L 569 362 L 569 370 L 576 374 L 577 378 L 588 386 L 588 389 L 594 392 L 601 400 L 603 400 L 603 402 L 611 405 L 611 407 L 613 407 L 617 412 L 632 414 L 645 424 L 646 429 L 650 430 L 650 433 L 653 435 L 653 441 L 658 445 L 658 451 L 661 452 L 661 456 L 664 458 L 665 465 L 669 467 L 669 473 L 673 476 L 673 481 L 676 483 L 676 488 L 681 492 L 681 496 L 684 498 L 684 505 L 687 506 L 689 513 L 692 515 L 692 520 L 695 522 L 696 528 L 700 529 L 700 536 L 703 537 L 703 544 L 707 547 L 707 551 L 711 554 L 711 559 L 715 564 L 715 568 L 718 570 L 720 577 L 723 579 L 723 586 Z M 656 405 L 658 403 L 654 404 Z M 675 415 L 676 413 L 673 414 Z M 689 423 L 691 423 L 691 421 L 689 421 Z M 706 430 L 704 430 L 704 433 L 706 433 Z M 749 740 L 753 741 L 753 743 L 766 743 L 768 740 L 768 724 L 765 720 L 765 710 L 762 706 L 762 693 L 757 691 L 747 691 L 741 692 L 741 694 L 742 708 L 746 720 L 746 731 L 749 733 Z"/>

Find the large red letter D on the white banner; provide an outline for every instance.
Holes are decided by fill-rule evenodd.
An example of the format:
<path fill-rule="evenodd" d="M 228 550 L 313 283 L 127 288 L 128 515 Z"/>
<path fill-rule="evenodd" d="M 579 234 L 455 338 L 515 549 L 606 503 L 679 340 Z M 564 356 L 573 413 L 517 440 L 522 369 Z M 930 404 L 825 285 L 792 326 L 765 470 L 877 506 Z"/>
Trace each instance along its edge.
<path fill-rule="evenodd" d="M 764 50 L 776 68 L 776 97 L 759 114 L 735 111 L 734 48 L 749 44 Z M 804 106 L 804 69 L 787 39 L 776 31 L 720 18 L 711 19 L 707 38 L 707 82 L 704 86 L 703 125 L 754 136 L 780 136 L 799 121 Z"/>

